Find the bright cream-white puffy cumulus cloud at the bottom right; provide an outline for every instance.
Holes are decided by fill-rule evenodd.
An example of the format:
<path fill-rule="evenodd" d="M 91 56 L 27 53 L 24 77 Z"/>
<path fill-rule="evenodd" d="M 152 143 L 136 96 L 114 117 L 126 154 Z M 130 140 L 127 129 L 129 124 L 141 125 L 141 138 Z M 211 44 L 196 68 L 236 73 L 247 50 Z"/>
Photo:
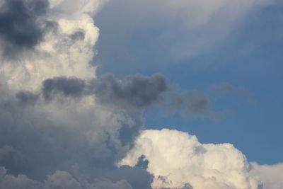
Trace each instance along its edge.
<path fill-rule="evenodd" d="M 149 160 L 153 188 L 250 188 L 260 181 L 249 172 L 246 157 L 232 144 L 201 144 L 177 130 L 144 130 L 120 165 Z"/>

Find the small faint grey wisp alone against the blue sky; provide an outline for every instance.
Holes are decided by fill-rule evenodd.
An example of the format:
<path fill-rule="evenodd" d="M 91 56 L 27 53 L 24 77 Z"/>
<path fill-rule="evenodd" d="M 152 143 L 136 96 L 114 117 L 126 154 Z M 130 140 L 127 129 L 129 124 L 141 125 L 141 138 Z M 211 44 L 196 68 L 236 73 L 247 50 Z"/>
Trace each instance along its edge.
<path fill-rule="evenodd" d="M 253 95 L 243 86 L 233 86 L 229 83 L 214 86 L 219 91 L 224 93 L 234 93 L 240 96 L 245 96 L 249 102 L 253 101 Z"/>

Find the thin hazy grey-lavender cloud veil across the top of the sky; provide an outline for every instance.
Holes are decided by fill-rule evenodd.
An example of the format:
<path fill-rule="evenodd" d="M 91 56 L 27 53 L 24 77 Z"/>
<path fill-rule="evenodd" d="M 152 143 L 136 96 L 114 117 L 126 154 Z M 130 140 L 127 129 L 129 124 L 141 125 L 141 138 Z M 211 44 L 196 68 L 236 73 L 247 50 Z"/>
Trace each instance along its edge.
<path fill-rule="evenodd" d="M 125 75 L 151 70 L 153 64 L 178 63 L 192 70 L 206 68 L 216 64 L 207 55 L 237 37 L 235 30 L 249 22 L 248 15 L 260 12 L 266 4 L 272 1 L 112 1 L 95 17 L 103 30 L 98 70 Z M 194 59 L 199 57 L 205 62 Z"/>

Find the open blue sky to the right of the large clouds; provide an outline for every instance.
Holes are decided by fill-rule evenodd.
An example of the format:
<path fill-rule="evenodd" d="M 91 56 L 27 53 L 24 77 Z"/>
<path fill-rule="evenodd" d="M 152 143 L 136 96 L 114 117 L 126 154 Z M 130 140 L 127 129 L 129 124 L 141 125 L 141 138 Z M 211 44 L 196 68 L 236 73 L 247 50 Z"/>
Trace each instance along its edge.
<path fill-rule="evenodd" d="M 187 31 L 175 17 L 164 19 L 162 12 L 151 12 L 154 8 L 144 11 L 144 16 L 135 8 L 137 5 L 128 1 L 112 2 L 95 17 L 101 31 L 95 58 L 95 63 L 100 64 L 98 74 L 112 72 L 122 79 L 128 74 L 161 73 L 177 88 L 207 94 L 211 110 L 224 113 L 221 120 L 212 120 L 190 114 L 168 115 L 154 108 L 146 112 L 145 128 L 183 130 L 196 134 L 200 142 L 231 142 L 249 161 L 281 162 L 282 1 L 251 8 L 227 26 L 229 31 L 224 35 L 218 30 L 214 33 L 217 22 Z M 211 32 L 207 32 L 209 27 Z M 204 38 L 208 45 L 201 45 L 195 55 L 186 54 L 193 49 L 190 43 L 197 44 L 195 41 L 208 35 L 219 40 L 211 40 L 214 36 Z M 246 88 L 253 101 L 213 88 L 226 82 Z"/>

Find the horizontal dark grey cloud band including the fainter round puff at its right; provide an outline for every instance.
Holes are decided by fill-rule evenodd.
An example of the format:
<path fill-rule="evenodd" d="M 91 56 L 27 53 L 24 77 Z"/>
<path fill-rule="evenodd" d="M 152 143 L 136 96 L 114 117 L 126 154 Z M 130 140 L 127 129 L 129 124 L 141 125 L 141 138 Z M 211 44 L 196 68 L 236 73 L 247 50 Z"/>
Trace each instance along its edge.
<path fill-rule="evenodd" d="M 169 92 L 167 96 L 163 93 Z M 169 89 L 166 79 L 161 74 L 143 76 L 141 74 L 127 76 L 124 80 L 115 79 L 112 74 L 105 74 L 96 79 L 55 77 L 42 82 L 42 96 L 50 101 L 60 95 L 81 99 L 83 96 L 95 96 L 96 102 L 125 110 L 143 110 L 154 103 L 163 102 L 171 112 L 185 110 L 188 113 L 203 114 L 210 108 L 207 96 L 196 90 L 175 93 Z M 21 92 L 26 101 L 35 99 L 35 94 Z M 24 99 L 22 99 L 23 101 Z M 126 134 L 137 128 L 122 128 L 121 136 L 127 140 Z M 125 136 L 124 136 L 124 135 Z M 132 139 L 128 139 L 132 140 Z"/>

